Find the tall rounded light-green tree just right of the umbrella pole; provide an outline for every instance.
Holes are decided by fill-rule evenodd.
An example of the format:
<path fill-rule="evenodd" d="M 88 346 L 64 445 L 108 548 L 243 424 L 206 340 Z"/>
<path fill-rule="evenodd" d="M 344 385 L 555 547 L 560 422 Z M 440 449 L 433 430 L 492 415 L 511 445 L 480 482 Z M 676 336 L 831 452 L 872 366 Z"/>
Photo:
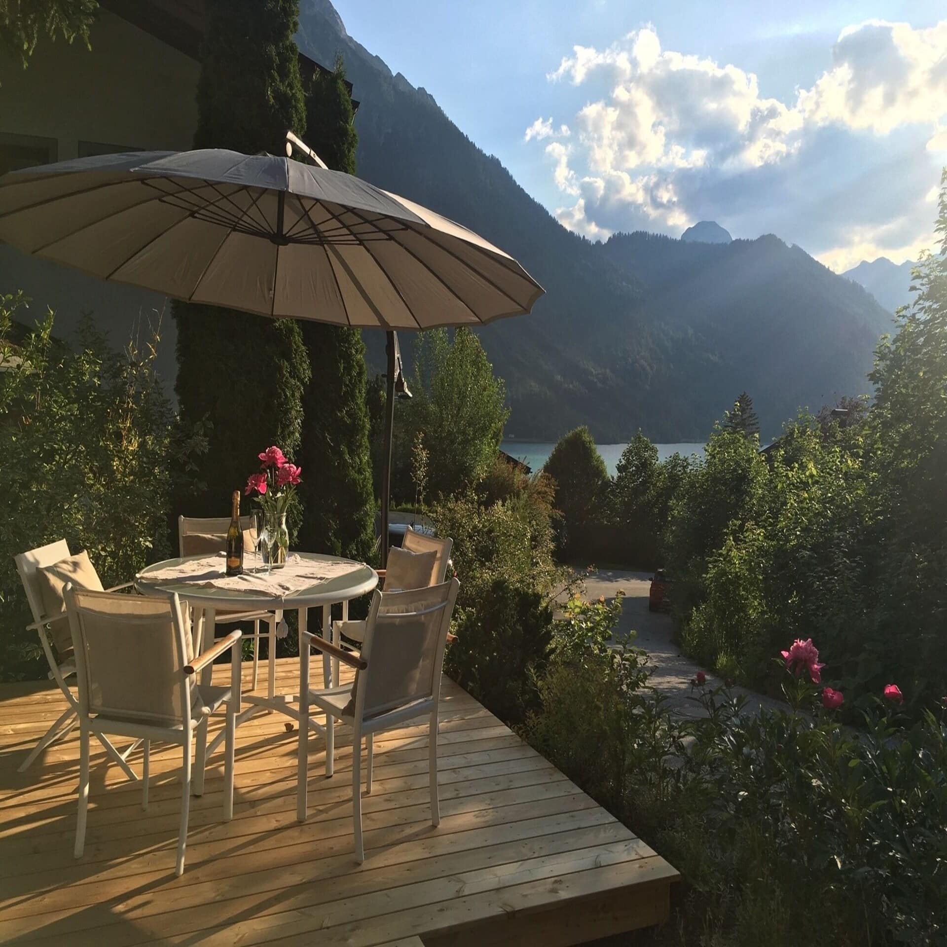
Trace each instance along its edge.
<path fill-rule="evenodd" d="M 412 496 L 407 465 L 418 432 L 430 454 L 432 497 L 466 491 L 487 473 L 500 449 L 506 387 L 469 329 L 421 332 L 415 342 L 414 397 L 398 405 L 394 455 L 399 495 Z"/>

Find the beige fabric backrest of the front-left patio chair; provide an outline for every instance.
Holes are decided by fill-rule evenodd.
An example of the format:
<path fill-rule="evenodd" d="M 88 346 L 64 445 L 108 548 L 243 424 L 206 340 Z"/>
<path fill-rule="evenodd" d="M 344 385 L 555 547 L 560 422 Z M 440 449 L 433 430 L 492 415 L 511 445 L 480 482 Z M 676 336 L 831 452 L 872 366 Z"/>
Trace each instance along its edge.
<path fill-rule="evenodd" d="M 80 714 L 159 727 L 190 725 L 190 634 L 181 602 L 65 589 Z"/>

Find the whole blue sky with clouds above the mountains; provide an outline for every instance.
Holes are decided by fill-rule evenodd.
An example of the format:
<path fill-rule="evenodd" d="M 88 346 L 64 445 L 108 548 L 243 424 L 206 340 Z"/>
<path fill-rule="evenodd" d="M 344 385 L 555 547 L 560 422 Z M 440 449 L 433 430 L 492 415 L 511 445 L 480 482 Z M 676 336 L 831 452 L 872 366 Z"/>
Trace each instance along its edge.
<path fill-rule="evenodd" d="M 335 0 L 563 225 L 775 233 L 842 272 L 934 245 L 944 0 Z"/>

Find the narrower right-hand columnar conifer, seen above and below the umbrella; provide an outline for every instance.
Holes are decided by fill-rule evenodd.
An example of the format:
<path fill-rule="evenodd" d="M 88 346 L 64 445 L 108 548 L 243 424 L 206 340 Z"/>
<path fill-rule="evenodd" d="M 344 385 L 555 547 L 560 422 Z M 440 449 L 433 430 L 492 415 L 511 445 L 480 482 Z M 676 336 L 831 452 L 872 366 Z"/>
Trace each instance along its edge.
<path fill-rule="evenodd" d="M 317 72 L 306 90 L 306 142 L 332 170 L 355 172 L 358 134 L 352 125 L 345 67 Z M 375 540 L 365 343 L 348 326 L 300 323 L 313 366 L 303 396 L 302 467 L 305 509 L 300 543 L 364 560 Z"/>

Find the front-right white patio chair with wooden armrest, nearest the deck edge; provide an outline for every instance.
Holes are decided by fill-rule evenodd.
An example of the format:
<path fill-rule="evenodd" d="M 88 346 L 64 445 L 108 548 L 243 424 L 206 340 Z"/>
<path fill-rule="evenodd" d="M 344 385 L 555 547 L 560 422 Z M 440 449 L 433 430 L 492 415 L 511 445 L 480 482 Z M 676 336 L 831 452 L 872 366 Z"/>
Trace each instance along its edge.
<path fill-rule="evenodd" d="M 365 861 L 362 842 L 362 739 L 367 743 L 366 792 L 371 793 L 376 733 L 426 716 L 431 787 L 431 822 L 438 825 L 438 704 L 444 646 L 460 583 L 406 592 L 376 591 L 366 618 L 361 654 L 336 648 L 316 634 L 303 632 L 299 642 L 299 751 L 296 818 L 306 821 L 309 776 L 310 709 L 326 714 L 326 776 L 334 771 L 335 718 L 352 725 L 352 824 L 355 857 Z M 311 690 L 310 651 L 331 654 L 356 669 L 351 684 Z"/>

